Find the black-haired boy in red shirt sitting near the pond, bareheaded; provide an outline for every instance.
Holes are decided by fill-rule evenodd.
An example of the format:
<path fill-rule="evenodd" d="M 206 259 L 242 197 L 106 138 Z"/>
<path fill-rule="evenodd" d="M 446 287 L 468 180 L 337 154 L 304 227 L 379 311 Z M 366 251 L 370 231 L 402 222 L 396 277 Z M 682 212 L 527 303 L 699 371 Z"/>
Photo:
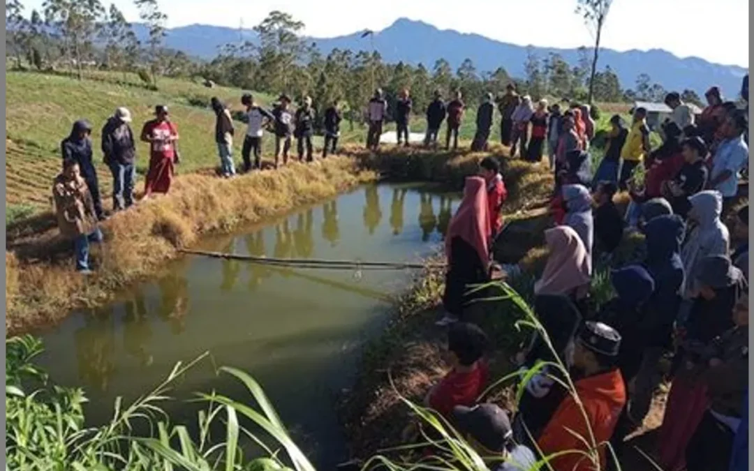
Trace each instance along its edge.
<path fill-rule="evenodd" d="M 483 355 L 487 335 L 478 326 L 458 322 L 448 332 L 450 372 L 434 385 L 425 398 L 425 405 L 449 417 L 456 405 L 473 405 L 487 381 L 487 365 Z"/>

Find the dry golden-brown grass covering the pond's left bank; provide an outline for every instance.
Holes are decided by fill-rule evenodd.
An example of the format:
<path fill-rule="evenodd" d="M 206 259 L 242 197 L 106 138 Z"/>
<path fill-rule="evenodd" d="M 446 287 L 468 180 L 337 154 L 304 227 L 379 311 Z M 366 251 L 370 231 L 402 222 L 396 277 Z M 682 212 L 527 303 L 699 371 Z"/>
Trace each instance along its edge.
<path fill-rule="evenodd" d="M 44 260 L 19 260 L 6 252 L 8 335 L 54 323 L 72 307 L 106 301 L 116 289 L 153 274 L 176 256 L 176 248 L 195 243 L 202 234 L 259 222 L 374 178 L 343 157 L 231 180 L 180 176 L 167 196 L 118 213 L 103 225 L 106 242 L 93 250 L 96 276 L 73 273 L 69 254 L 54 252 L 66 244 L 43 241 L 36 250 L 28 249 L 53 251 Z M 65 256 L 56 260 L 60 255 Z"/>

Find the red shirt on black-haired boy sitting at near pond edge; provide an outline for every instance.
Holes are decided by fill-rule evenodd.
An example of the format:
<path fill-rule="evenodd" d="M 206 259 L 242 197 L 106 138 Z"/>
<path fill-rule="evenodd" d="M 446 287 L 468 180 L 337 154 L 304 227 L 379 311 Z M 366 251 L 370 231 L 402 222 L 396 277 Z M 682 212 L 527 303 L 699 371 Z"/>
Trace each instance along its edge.
<path fill-rule="evenodd" d="M 477 368 L 467 373 L 452 370 L 437 384 L 429 398 L 429 406 L 449 417 L 456 405 L 474 405 L 487 382 L 487 364 L 477 362 Z"/>

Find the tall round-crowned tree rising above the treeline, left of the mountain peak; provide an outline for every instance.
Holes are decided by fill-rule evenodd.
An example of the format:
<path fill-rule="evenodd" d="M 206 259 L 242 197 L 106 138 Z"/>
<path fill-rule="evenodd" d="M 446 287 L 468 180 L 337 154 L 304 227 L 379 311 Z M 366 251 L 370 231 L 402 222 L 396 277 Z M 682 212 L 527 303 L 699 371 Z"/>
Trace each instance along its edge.
<path fill-rule="evenodd" d="M 254 26 L 259 35 L 259 65 L 262 83 L 268 89 L 287 90 L 291 85 L 290 69 L 302 59 L 306 44 L 299 37 L 304 23 L 290 14 L 271 11 L 262 23 Z"/>

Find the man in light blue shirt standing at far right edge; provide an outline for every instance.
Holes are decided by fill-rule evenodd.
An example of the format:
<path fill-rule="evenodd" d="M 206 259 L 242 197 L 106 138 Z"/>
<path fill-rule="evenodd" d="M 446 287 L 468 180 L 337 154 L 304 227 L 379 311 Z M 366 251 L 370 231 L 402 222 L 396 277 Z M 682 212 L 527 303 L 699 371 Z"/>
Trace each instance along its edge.
<path fill-rule="evenodd" d="M 722 122 L 723 141 L 713 158 L 710 189 L 722 194 L 723 217 L 738 194 L 738 174 L 749 163 L 749 146 L 743 133 L 749 128 L 743 111 L 729 113 Z"/>

